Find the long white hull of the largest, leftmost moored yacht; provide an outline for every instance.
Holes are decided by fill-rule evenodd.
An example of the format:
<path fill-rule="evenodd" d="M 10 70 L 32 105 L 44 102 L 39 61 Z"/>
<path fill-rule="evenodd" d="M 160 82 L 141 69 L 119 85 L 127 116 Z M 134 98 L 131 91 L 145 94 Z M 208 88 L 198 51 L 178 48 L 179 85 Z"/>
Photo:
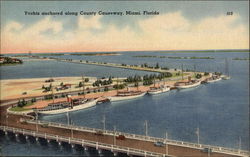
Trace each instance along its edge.
<path fill-rule="evenodd" d="M 73 108 L 67 107 L 67 108 L 58 109 L 58 110 L 38 111 L 38 113 L 42 114 L 42 115 L 53 115 L 53 114 L 72 112 L 72 111 L 76 111 L 76 110 L 82 110 L 82 109 L 93 107 L 96 105 L 96 103 L 97 103 L 97 99 L 86 102 L 86 103 L 81 104 L 81 105 L 74 106 Z"/>

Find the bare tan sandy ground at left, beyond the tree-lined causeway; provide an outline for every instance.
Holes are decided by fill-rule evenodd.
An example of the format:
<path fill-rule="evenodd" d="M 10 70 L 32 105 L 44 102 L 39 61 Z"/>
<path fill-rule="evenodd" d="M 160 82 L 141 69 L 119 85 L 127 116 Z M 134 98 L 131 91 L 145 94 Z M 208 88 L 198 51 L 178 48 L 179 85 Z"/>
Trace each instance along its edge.
<path fill-rule="evenodd" d="M 86 78 L 86 77 L 85 77 Z M 96 78 L 89 78 L 89 82 L 86 83 L 86 87 L 92 85 Z M 51 82 L 45 82 L 50 78 L 32 78 L 32 79 L 10 79 L 10 80 L 0 80 L 0 100 L 23 98 L 29 96 L 41 96 L 49 94 L 49 92 L 44 93 L 42 86 L 48 87 Z M 54 87 L 59 86 L 61 82 L 64 84 L 71 84 L 71 88 L 66 90 L 61 90 L 59 92 L 70 92 L 74 90 L 79 90 L 76 86 L 82 81 L 82 77 L 54 77 L 55 81 L 52 82 Z M 26 92 L 27 94 L 23 94 Z M 54 93 L 58 93 L 54 90 Z"/>

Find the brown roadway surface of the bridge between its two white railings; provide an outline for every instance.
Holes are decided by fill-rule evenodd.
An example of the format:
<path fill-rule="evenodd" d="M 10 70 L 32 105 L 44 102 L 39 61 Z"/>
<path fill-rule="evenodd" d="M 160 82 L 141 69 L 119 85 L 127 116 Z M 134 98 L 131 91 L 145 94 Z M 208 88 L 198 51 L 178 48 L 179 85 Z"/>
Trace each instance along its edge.
<path fill-rule="evenodd" d="M 20 118 L 23 117 L 21 115 L 12 115 L 8 114 L 8 119 L 6 119 L 6 109 L 7 106 L 0 107 L 1 109 L 1 123 L 0 125 L 8 125 L 15 128 L 22 128 L 27 130 L 33 130 L 36 131 L 36 125 L 30 124 L 30 123 L 20 123 Z M 59 136 L 64 137 L 71 137 L 72 131 L 70 129 L 65 128 L 58 128 L 49 126 L 48 128 L 42 127 L 38 125 L 39 132 L 42 133 L 48 133 L 48 134 L 55 134 Z M 73 137 L 84 139 L 84 140 L 90 140 L 90 141 L 97 141 L 101 143 L 107 143 L 107 144 L 114 144 L 114 136 L 112 135 L 96 135 L 95 133 L 87 132 L 87 131 L 77 131 L 73 130 Z M 150 152 L 156 152 L 156 153 L 166 153 L 166 147 L 156 147 L 154 146 L 154 143 L 151 141 L 142 141 L 138 139 L 130 139 L 126 138 L 125 140 L 115 140 L 116 145 L 118 146 L 124 146 L 134 149 L 141 149 L 146 150 Z M 237 155 L 227 155 L 223 153 L 203 153 L 201 150 L 194 149 L 194 148 L 188 148 L 183 146 L 177 146 L 177 145 L 168 145 L 168 153 L 172 156 L 183 156 L 183 157 L 237 157 Z"/>

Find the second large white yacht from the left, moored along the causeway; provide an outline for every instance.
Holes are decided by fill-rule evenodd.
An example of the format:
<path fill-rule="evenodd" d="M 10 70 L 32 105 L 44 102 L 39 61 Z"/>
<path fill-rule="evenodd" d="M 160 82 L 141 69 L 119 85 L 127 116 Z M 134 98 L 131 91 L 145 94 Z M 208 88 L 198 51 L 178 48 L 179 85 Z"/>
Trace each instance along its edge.
<path fill-rule="evenodd" d="M 142 91 L 119 91 L 117 95 L 108 97 L 108 99 L 111 102 L 123 101 L 123 100 L 130 100 L 130 99 L 143 97 L 145 94 L 146 92 L 142 92 Z"/>

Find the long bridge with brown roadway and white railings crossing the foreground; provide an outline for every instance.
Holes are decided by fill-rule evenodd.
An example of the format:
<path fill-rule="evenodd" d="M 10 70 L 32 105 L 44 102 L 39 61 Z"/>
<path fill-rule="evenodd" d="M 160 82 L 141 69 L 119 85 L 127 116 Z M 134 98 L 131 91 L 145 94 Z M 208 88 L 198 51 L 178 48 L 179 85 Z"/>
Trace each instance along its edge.
<path fill-rule="evenodd" d="M 1 107 L 1 109 L 5 107 Z M 29 136 L 36 140 L 45 139 L 47 142 L 55 141 L 58 145 L 62 142 L 72 147 L 78 145 L 83 149 L 94 148 L 98 152 L 107 150 L 114 155 L 125 153 L 129 156 L 199 156 L 199 157 L 247 157 L 248 151 L 189 143 L 137 134 L 129 134 L 114 130 L 88 128 L 83 126 L 67 125 L 48 121 L 31 119 L 32 116 L 14 115 L 2 112 L 0 130 L 5 134 L 14 133 L 15 136 Z M 5 110 L 6 111 L 6 110 Z M 3 113 L 3 114 L 2 114 Z M 25 121 L 20 121 L 25 118 Z M 119 138 L 119 137 L 123 138 Z M 155 145 L 161 142 L 163 145 Z M 211 149 L 212 152 L 205 149 Z"/>

